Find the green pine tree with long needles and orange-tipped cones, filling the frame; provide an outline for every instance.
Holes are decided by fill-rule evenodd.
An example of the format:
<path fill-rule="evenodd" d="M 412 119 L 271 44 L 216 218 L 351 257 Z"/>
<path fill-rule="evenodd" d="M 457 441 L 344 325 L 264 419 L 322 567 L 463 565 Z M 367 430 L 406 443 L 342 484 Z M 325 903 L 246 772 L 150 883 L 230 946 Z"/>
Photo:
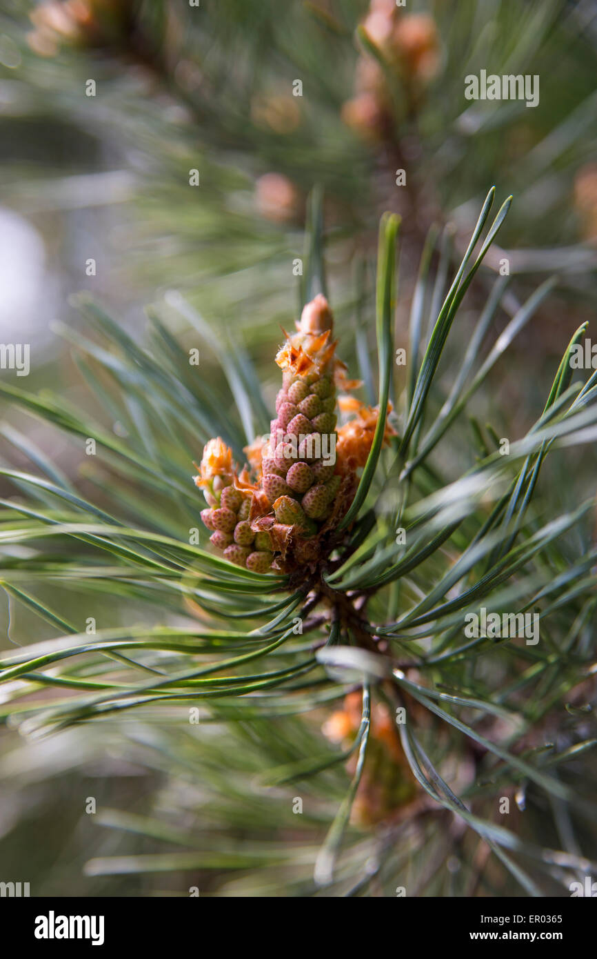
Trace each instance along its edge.
<path fill-rule="evenodd" d="M 258 7 L 3 14 L 41 115 L 150 159 L 116 274 L 143 335 L 84 292 L 62 382 L 0 381 L 9 766 L 52 745 L 52 809 L 69 763 L 147 771 L 93 817 L 101 894 L 568 895 L 597 870 L 594 49 L 575 5 L 480 35 L 472 0 Z M 489 58 L 549 117 L 463 110 Z"/>

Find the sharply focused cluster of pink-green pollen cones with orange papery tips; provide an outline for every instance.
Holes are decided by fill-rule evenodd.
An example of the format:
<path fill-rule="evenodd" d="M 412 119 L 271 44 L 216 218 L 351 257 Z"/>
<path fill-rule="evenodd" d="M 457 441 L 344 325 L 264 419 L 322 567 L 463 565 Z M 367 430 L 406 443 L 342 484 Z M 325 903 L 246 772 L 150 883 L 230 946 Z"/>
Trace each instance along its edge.
<path fill-rule="evenodd" d="M 336 397 L 338 387 L 358 384 L 346 379 L 332 335 L 332 311 L 320 293 L 276 356 L 283 385 L 269 435 L 245 448 L 241 472 L 219 437 L 203 450 L 195 477 L 208 503 L 201 519 L 225 558 L 255 573 L 314 569 L 330 554 L 371 449 L 379 411 Z M 353 414 L 339 429 L 336 406 Z M 386 438 L 392 433 L 386 425 Z"/>

